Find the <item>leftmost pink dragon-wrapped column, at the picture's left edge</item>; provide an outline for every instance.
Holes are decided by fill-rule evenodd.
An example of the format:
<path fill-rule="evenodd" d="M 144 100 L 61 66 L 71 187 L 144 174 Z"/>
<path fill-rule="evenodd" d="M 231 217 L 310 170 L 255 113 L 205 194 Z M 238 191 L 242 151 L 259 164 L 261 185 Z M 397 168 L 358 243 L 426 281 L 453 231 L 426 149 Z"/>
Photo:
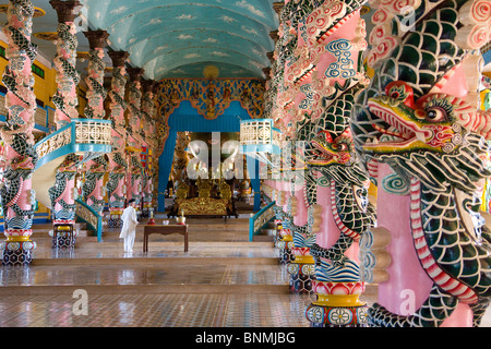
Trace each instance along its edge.
<path fill-rule="evenodd" d="M 11 0 L 7 10 L 8 23 L 2 29 L 9 44 L 5 50 L 9 63 L 2 76 L 8 89 L 5 107 L 9 115 L 0 130 L 5 143 L 5 169 L 0 189 L 7 237 L 1 243 L 2 265 L 28 265 L 35 248 L 31 241 L 35 204 L 31 181 L 37 161 L 32 132 L 36 97 L 31 67 L 37 49 L 31 43 L 33 14 L 31 1 Z"/>

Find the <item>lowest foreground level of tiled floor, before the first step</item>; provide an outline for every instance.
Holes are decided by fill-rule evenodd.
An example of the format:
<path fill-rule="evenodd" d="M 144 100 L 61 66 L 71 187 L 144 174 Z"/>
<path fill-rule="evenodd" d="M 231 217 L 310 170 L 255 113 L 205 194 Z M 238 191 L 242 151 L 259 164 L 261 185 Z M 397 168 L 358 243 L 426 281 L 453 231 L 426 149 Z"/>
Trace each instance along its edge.
<path fill-rule="evenodd" d="M 71 296 L 11 296 L 0 301 L 10 327 L 308 327 L 308 297 L 276 294 L 93 294 L 87 315 Z"/>

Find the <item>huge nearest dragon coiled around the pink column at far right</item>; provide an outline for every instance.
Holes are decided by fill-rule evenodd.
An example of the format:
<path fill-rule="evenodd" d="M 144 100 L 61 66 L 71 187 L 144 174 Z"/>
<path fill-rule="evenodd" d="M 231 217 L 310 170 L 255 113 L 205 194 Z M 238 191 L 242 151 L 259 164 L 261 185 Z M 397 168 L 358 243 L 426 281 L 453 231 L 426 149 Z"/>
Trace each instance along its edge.
<path fill-rule="evenodd" d="M 491 3 L 409 4 L 410 11 L 400 12 L 397 1 L 387 1 L 373 15 L 379 31 L 368 62 L 375 73 L 357 99 L 351 129 L 364 167 L 375 170 L 379 191 L 388 177 L 381 180 L 382 166 L 407 188 L 399 194 L 407 208 L 391 217 L 381 210 L 379 225 L 407 222 L 407 229 L 391 231 L 391 246 L 408 237 L 411 245 L 400 248 L 411 249 L 419 266 L 405 269 L 410 261 L 392 253 L 391 267 L 399 269 L 379 284 L 379 294 L 398 282 L 421 301 L 403 314 L 393 301 L 399 294 L 384 293 L 369 309 L 369 323 L 442 326 L 457 308 L 467 308 L 470 325 L 478 326 L 491 297 L 491 237 L 479 214 L 490 176 L 483 158 L 491 116 L 478 110 L 474 81 L 482 67 L 478 49 L 490 38 Z M 411 281 L 417 277 L 423 281 Z"/>

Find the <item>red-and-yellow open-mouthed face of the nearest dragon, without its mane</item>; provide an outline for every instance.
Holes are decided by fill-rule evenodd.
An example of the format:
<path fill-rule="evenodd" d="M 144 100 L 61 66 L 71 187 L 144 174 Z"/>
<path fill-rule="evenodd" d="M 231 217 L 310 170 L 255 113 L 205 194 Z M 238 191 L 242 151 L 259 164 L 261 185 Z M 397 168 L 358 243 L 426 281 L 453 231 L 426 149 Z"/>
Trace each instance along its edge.
<path fill-rule="evenodd" d="M 431 94 L 414 100 L 412 88 L 395 81 L 385 95 L 369 99 L 371 112 L 388 127 L 372 124 L 381 137 L 364 144 L 367 152 L 394 154 L 411 151 L 452 153 L 463 143 L 466 132 L 458 123 L 458 105 L 442 94 Z M 467 108 L 465 108 L 467 109 Z"/>

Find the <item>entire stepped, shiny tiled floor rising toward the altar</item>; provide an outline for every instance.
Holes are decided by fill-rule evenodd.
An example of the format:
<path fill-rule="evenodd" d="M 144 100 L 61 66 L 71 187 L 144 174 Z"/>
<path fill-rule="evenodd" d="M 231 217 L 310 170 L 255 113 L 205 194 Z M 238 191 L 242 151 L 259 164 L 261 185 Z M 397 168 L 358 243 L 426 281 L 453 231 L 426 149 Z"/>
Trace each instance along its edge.
<path fill-rule="evenodd" d="M 248 241 L 248 219 L 188 222 L 188 252 L 181 236 L 151 236 L 143 253 L 140 227 L 132 254 L 118 229 L 106 229 L 104 242 L 80 238 L 74 252 L 53 253 L 38 227 L 33 264 L 0 268 L 0 326 L 309 327 L 313 297 L 288 292 L 277 250 Z M 75 290 L 86 292 L 86 314 L 77 314 Z"/>

